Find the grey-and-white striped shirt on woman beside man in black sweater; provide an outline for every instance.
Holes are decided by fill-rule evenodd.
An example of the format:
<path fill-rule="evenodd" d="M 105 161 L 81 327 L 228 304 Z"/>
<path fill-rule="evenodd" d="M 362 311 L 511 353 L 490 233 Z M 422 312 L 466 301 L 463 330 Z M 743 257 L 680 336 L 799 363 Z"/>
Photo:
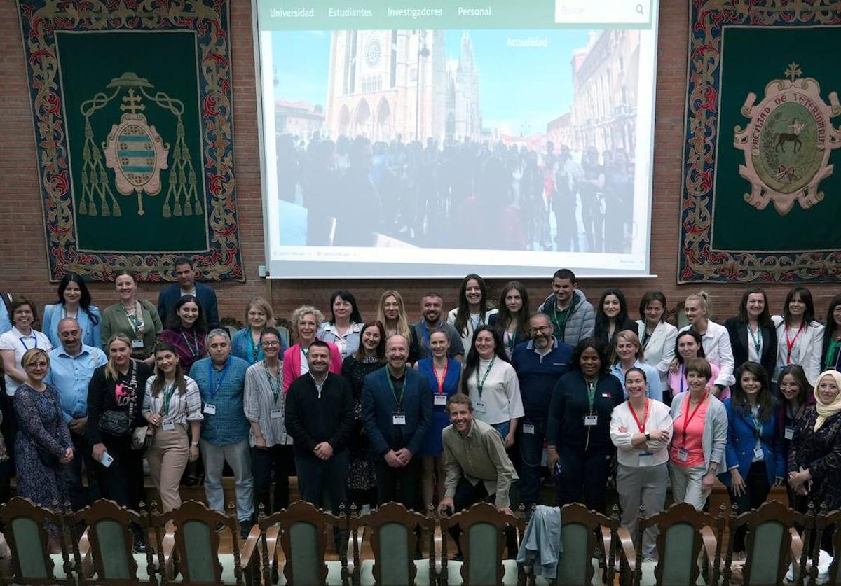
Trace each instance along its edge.
<path fill-rule="evenodd" d="M 272 385 L 275 385 L 272 390 Z M 275 398 L 277 391 L 277 399 Z M 248 421 L 257 421 L 266 446 L 292 445 L 292 437 L 286 432 L 286 393 L 283 392 L 283 362 L 278 361 L 278 377 L 273 378 L 262 360 L 251 364 L 246 370 L 246 394 L 243 407 Z M 280 417 L 272 419 L 272 411 L 280 410 Z M 254 446 L 254 432 L 249 436 Z"/>

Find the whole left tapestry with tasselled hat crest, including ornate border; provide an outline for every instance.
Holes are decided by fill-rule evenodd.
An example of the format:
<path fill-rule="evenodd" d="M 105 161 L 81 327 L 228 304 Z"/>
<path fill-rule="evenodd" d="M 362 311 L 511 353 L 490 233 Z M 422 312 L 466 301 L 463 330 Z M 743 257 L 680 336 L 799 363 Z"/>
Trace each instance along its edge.
<path fill-rule="evenodd" d="M 18 0 L 50 277 L 242 280 L 227 0 Z"/>

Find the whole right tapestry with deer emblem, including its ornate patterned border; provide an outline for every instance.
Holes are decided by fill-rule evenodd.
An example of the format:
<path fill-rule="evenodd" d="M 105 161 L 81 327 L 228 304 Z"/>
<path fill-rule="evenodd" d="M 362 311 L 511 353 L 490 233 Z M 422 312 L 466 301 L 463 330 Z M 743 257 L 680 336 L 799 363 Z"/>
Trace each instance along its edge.
<path fill-rule="evenodd" d="M 841 2 L 690 1 L 678 282 L 841 280 Z"/>

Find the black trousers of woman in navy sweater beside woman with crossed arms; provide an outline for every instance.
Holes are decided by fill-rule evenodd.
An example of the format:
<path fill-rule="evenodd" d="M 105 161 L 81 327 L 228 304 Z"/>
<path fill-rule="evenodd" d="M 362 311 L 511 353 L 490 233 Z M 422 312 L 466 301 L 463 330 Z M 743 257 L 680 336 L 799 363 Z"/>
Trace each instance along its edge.
<path fill-rule="evenodd" d="M 561 469 L 555 474 L 555 504 L 584 503 L 588 509 L 604 513 L 611 454 L 558 446 L 558 464 Z"/>

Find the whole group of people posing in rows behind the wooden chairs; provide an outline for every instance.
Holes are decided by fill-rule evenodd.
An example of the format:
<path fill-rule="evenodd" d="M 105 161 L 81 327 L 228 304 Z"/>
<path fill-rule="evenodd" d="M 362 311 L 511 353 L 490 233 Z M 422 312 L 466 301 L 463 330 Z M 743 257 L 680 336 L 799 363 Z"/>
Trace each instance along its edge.
<path fill-rule="evenodd" d="M 679 330 L 663 293 L 646 293 L 635 321 L 621 290 L 594 308 L 560 269 L 535 304 L 517 281 L 495 302 L 467 275 L 452 310 L 434 291 L 415 300 L 414 323 L 396 290 L 368 320 L 338 290 L 327 312 L 295 309 L 288 328 L 256 297 L 231 331 L 191 261 L 176 269 L 157 305 L 119 273 L 103 311 L 66 275 L 41 331 L 31 301 L 2 295 L 0 500 L 17 474 L 18 494 L 42 505 L 102 496 L 135 508 L 145 459 L 164 510 L 199 460 L 223 510 L 227 464 L 244 533 L 258 511 L 288 505 L 293 476 L 303 500 L 336 512 L 479 500 L 528 511 L 546 484 L 546 504 L 604 511 L 615 490 L 632 535 L 640 505 L 659 512 L 669 484 L 697 510 L 716 479 L 739 511 L 776 485 L 797 510 L 841 507 L 841 295 L 821 323 L 805 287 L 775 316 L 748 289 L 719 324 L 701 291 Z"/>

